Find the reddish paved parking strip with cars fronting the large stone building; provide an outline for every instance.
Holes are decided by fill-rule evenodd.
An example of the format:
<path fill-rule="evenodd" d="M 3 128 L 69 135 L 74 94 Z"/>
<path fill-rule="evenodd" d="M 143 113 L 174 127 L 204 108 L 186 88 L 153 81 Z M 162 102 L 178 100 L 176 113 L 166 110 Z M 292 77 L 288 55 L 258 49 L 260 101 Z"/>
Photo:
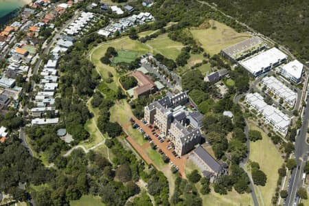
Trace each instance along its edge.
<path fill-rule="evenodd" d="M 155 126 L 142 122 L 135 117 L 132 118 L 132 122 L 133 127 L 141 130 L 142 133 L 149 138 L 148 141 L 155 144 L 157 147 L 155 150 L 157 150 L 157 152 L 161 155 L 166 155 L 168 159 L 170 159 L 170 166 L 177 168 L 181 176 L 185 176 L 185 161 L 187 159 L 187 155 L 183 155 L 182 157 L 177 157 L 177 155 L 174 155 L 175 152 L 172 143 L 168 139 L 164 138 L 160 133 L 160 130 L 156 129 Z"/>

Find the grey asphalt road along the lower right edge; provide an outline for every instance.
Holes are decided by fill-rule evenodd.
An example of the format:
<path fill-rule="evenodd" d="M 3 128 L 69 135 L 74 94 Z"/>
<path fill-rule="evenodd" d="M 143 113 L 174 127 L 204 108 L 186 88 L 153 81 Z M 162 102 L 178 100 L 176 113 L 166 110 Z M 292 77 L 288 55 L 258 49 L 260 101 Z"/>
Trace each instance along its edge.
<path fill-rule="evenodd" d="M 295 160 L 297 161 L 297 168 L 293 170 L 291 185 L 288 190 L 288 197 L 286 198 L 286 205 L 288 206 L 293 205 L 296 192 L 299 186 L 301 186 L 301 176 L 304 172 L 304 165 L 308 157 L 309 146 L 306 143 L 306 137 L 309 120 L 309 104 L 306 105 L 303 119 L 303 124 L 295 141 Z"/>

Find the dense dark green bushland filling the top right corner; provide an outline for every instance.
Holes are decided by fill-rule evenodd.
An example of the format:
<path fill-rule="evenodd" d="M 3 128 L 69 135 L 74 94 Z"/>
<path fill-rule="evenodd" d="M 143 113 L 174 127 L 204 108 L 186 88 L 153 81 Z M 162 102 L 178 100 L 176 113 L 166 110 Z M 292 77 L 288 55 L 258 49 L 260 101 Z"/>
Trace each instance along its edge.
<path fill-rule="evenodd" d="M 298 59 L 308 61 L 309 1 L 204 1 L 216 3 L 222 12 L 286 45 Z"/>

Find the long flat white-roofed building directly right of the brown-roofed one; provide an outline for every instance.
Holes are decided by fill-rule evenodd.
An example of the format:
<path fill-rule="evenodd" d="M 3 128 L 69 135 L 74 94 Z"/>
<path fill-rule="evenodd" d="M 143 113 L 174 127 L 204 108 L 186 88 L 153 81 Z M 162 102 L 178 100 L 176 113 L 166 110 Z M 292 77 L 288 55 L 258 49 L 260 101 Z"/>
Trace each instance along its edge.
<path fill-rule="evenodd" d="M 247 69 L 253 76 L 260 76 L 260 74 L 271 70 L 273 67 L 281 65 L 288 59 L 288 56 L 279 49 L 273 47 L 266 52 L 262 52 L 257 56 L 253 56 L 248 60 L 240 62 L 240 65 Z"/>

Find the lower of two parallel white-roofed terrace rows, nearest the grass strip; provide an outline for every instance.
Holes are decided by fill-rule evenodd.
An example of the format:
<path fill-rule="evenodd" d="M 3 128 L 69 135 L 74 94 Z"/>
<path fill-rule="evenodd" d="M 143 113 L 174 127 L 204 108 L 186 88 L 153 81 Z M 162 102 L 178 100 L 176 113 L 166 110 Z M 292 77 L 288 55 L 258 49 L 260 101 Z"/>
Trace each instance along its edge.
<path fill-rule="evenodd" d="M 275 131 L 286 135 L 290 126 L 290 117 L 274 106 L 266 104 L 259 93 L 249 93 L 245 98 L 251 108 L 262 114 L 266 124 L 271 124 Z"/>

